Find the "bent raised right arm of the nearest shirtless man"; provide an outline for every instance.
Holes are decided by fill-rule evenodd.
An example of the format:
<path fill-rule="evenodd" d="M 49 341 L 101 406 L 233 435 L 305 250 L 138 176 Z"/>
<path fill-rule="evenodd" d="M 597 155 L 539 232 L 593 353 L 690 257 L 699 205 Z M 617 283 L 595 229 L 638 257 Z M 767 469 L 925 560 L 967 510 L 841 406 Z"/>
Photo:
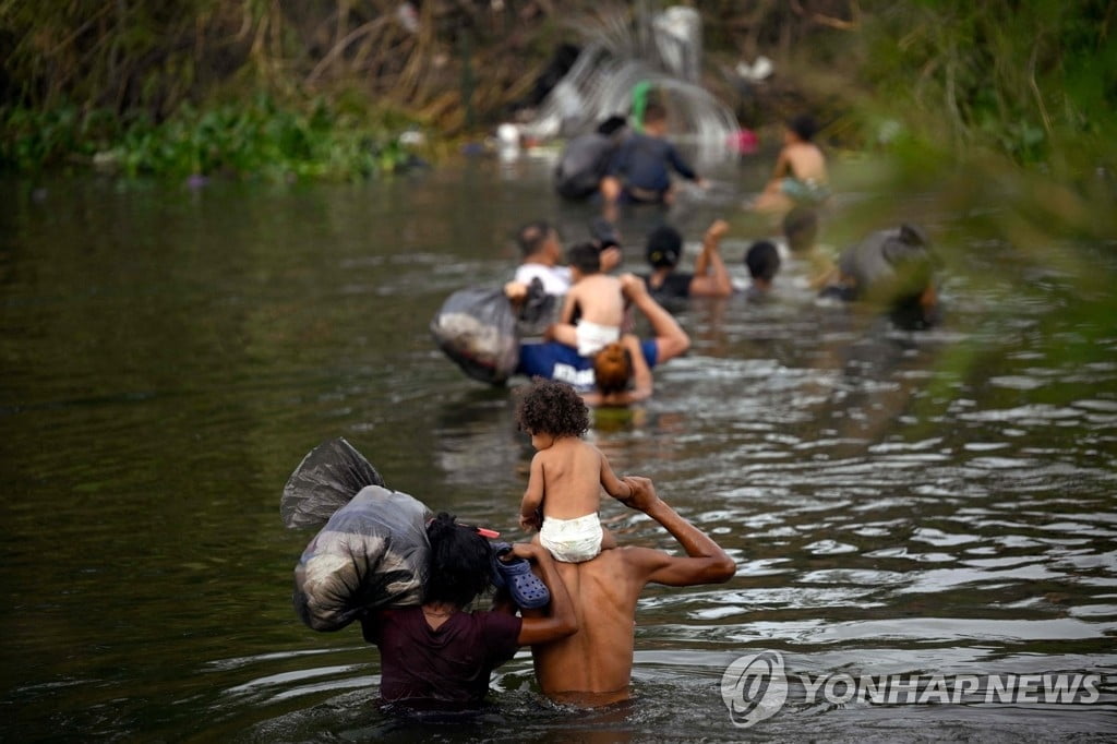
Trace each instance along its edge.
<path fill-rule="evenodd" d="M 626 476 L 623 480 L 632 490 L 632 496 L 624 499 L 624 504 L 662 525 L 687 552 L 686 557 L 681 557 L 662 551 L 640 551 L 639 561 L 646 572 L 646 582 L 690 586 L 722 583 L 733 578 L 737 565 L 728 553 L 660 499 L 650 479 Z"/>

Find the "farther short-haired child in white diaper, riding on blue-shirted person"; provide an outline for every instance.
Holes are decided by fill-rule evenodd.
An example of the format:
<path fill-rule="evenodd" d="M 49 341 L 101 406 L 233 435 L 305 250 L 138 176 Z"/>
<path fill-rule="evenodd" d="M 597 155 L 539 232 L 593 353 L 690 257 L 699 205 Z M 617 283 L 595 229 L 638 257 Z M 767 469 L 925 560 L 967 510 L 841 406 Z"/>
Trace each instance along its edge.
<path fill-rule="evenodd" d="M 601 273 L 598 249 L 580 242 L 566 252 L 573 286 L 566 293 L 560 322 L 550 328 L 554 341 L 577 349 L 580 356 L 593 356 L 620 340 L 624 323 L 621 280 Z"/>

